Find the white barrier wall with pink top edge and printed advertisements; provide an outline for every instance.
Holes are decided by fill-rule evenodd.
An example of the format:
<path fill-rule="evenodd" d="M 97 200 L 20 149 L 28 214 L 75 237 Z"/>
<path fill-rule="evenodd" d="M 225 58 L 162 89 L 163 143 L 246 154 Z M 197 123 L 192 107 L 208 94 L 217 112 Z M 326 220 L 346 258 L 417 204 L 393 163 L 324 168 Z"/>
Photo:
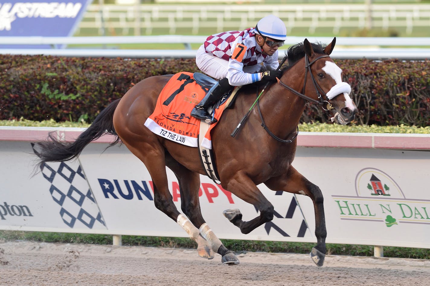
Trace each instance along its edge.
<path fill-rule="evenodd" d="M 55 128 L 0 127 L 0 229 L 187 237 L 154 207 L 151 176 L 125 146 L 103 152 L 112 137 L 89 144 L 79 159 L 48 163 L 32 176 L 31 142 Z M 70 140 L 80 128 L 57 128 Z M 430 135 L 301 132 L 294 166 L 324 194 L 327 242 L 430 248 Z M 180 210 L 178 182 L 169 187 Z M 275 207 L 272 222 L 240 233 L 222 211 L 252 205 L 201 176 L 203 216 L 220 238 L 315 242 L 310 198 L 259 188 Z"/>

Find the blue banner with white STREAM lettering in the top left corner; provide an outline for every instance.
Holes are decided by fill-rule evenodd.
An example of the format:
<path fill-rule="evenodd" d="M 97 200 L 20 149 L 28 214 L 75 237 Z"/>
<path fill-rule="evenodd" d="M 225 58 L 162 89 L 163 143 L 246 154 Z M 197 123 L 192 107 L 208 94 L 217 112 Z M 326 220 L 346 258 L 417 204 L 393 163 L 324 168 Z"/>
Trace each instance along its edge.
<path fill-rule="evenodd" d="M 0 0 L 0 48 L 51 48 L 49 45 L 2 45 L 1 37 L 73 36 L 92 0 L 42 1 Z"/>

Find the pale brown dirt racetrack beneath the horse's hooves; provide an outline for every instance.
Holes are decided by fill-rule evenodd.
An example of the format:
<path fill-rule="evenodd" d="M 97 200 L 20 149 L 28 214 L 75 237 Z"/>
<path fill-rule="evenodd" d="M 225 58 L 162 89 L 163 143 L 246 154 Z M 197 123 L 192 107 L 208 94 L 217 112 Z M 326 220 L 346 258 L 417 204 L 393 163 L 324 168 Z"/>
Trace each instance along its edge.
<path fill-rule="evenodd" d="M 69 243 L 0 243 L 0 285 L 430 285 L 430 260 L 243 253 L 240 265 L 195 250 Z"/>

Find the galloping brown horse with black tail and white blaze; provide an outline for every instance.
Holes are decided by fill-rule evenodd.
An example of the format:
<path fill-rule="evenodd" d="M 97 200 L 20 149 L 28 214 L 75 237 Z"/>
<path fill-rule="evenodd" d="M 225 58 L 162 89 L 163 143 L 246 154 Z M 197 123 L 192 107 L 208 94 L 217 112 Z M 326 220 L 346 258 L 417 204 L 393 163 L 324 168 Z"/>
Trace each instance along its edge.
<path fill-rule="evenodd" d="M 349 97 L 350 86 L 342 82 L 342 71 L 330 54 L 336 38 L 329 45 L 310 43 L 307 39 L 289 47 L 288 64 L 278 82 L 268 85 L 258 99 L 257 110 L 249 113 L 240 131 L 231 131 L 250 110 L 253 94 L 262 91 L 261 83 L 245 85 L 237 93 L 233 107 L 224 113 L 212 131 L 214 161 L 222 188 L 255 206 L 259 216 L 244 221 L 240 210 L 225 210 L 224 216 L 244 234 L 273 219 L 273 205 L 257 188 L 264 183 L 274 191 L 308 196 L 314 205 L 316 246 L 310 256 L 322 266 L 326 255 L 326 222 L 323 195 L 318 186 L 307 180 L 293 166 L 298 124 L 307 103 L 315 103 L 332 115 L 332 122 L 347 124 L 354 119 L 356 105 Z M 221 255 L 227 265 L 239 264 L 203 219 L 199 203 L 200 174 L 206 171 L 198 148 L 184 146 L 152 133 L 144 122 L 153 113 L 160 91 L 172 75 L 151 76 L 141 80 L 123 97 L 110 103 L 80 136 L 72 142 L 59 141 L 49 134 L 39 142 L 38 164 L 41 170 L 48 161 L 76 158 L 92 140 L 113 134 L 113 146 L 119 142 L 147 167 L 154 184 L 154 204 L 187 232 L 197 243 L 198 255 L 212 259 Z M 349 87 L 349 90 L 348 90 Z M 265 87 L 264 87 L 265 88 Z M 299 92 L 301 91 L 301 92 Z M 263 128 L 261 128 L 263 126 Z M 178 179 L 182 214 L 169 192 L 166 166 Z"/>

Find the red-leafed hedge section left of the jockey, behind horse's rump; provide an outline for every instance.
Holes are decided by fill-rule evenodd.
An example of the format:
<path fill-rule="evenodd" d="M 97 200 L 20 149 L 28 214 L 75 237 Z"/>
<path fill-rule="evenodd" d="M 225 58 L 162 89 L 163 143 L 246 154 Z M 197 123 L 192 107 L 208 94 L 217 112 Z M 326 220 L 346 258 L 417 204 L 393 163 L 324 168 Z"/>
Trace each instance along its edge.
<path fill-rule="evenodd" d="M 0 55 L 0 119 L 95 118 L 142 79 L 181 70 L 190 60 Z"/>

